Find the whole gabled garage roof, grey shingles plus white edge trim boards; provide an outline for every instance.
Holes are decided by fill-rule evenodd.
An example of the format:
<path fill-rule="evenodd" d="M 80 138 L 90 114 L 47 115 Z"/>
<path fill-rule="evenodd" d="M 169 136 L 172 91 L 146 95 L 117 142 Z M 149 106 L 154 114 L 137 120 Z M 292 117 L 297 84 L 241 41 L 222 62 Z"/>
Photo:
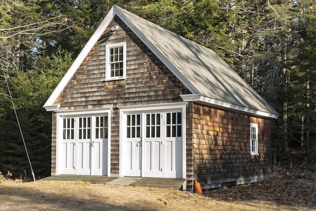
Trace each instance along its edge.
<path fill-rule="evenodd" d="M 277 118 L 278 113 L 213 50 L 163 29 L 116 5 L 111 8 L 48 98 L 44 105 L 46 110 L 51 108 L 115 15 L 190 90 L 192 95 L 181 95 L 184 101 L 201 101 L 250 114 Z"/>

